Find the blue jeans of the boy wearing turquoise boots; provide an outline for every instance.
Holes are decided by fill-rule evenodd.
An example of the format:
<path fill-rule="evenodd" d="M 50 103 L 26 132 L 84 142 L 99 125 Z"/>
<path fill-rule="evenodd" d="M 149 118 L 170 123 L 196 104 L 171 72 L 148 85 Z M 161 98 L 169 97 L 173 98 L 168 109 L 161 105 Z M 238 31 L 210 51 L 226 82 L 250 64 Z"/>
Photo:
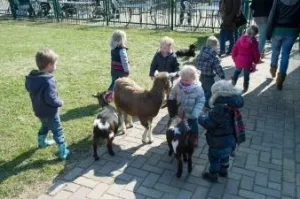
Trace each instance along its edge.
<path fill-rule="evenodd" d="M 45 135 L 47 136 L 49 130 L 53 133 L 53 139 L 57 144 L 65 143 L 65 137 L 63 134 L 63 129 L 61 126 L 60 116 L 56 114 L 53 117 L 47 118 L 39 118 L 42 126 L 39 130 L 38 135 Z"/>

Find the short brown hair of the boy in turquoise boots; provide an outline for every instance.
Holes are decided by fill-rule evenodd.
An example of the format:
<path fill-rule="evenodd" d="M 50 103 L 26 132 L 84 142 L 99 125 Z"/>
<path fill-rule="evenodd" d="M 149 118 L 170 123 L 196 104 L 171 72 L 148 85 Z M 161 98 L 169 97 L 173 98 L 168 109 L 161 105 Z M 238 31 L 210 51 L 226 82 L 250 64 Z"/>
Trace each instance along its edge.
<path fill-rule="evenodd" d="M 44 70 L 48 64 L 55 64 L 58 55 L 49 48 L 39 50 L 35 55 L 35 62 L 39 70 Z"/>

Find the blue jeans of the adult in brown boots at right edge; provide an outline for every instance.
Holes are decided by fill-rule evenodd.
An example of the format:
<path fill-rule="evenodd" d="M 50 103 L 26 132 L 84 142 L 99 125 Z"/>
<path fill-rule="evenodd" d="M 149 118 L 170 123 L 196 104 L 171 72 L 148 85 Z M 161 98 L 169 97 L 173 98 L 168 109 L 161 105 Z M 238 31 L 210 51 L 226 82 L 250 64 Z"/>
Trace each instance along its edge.
<path fill-rule="evenodd" d="M 289 58 L 292 47 L 297 37 L 274 36 L 272 38 L 272 58 L 271 65 L 278 66 L 279 54 L 281 51 L 280 74 L 286 74 L 289 66 Z"/>

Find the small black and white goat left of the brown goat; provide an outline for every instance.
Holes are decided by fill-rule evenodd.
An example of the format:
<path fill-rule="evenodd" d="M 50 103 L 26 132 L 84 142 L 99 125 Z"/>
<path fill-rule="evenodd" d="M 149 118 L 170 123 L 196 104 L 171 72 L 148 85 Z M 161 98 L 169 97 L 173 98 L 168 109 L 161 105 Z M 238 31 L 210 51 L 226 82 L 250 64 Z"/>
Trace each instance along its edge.
<path fill-rule="evenodd" d="M 112 149 L 112 142 L 118 132 L 119 117 L 116 109 L 107 103 L 105 93 L 93 95 L 93 97 L 98 99 L 99 105 L 102 107 L 93 123 L 93 156 L 95 160 L 99 160 L 97 144 L 100 139 L 106 140 L 109 155 L 115 155 Z"/>

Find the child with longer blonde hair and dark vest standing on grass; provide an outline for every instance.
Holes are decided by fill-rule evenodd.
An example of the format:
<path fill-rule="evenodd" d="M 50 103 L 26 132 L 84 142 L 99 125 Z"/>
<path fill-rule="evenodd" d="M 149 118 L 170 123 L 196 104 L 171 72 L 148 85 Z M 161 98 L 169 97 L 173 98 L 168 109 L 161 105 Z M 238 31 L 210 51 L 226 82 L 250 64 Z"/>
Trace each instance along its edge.
<path fill-rule="evenodd" d="M 130 65 L 127 57 L 127 37 L 122 30 L 115 30 L 110 39 L 111 47 L 111 84 L 108 91 L 112 92 L 115 81 L 120 77 L 127 77 Z"/>

